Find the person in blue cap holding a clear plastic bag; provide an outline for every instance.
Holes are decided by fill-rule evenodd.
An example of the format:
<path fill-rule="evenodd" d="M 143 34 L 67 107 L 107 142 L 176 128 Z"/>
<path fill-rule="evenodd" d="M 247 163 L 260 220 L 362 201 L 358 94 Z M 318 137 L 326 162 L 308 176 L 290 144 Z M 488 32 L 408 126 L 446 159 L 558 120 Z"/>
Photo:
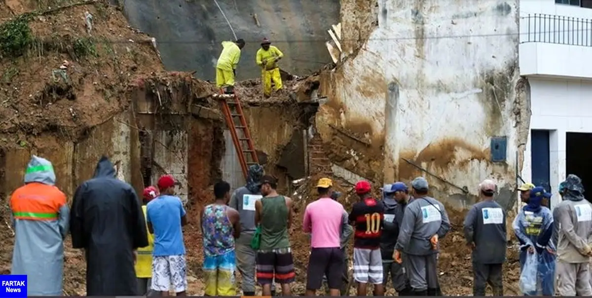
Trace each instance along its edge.
<path fill-rule="evenodd" d="M 512 224 L 514 234 L 520 242 L 520 271 L 523 270 L 527 254 L 538 252 L 537 280 L 541 281 L 543 296 L 554 294 L 554 266 L 555 255 L 547 249 L 549 235 L 553 229 L 553 215 L 551 210 L 541 206 L 545 188 L 535 187 L 530 190 L 530 197 L 526 206 L 520 210 Z M 527 296 L 536 296 L 536 291 L 524 293 Z"/>

